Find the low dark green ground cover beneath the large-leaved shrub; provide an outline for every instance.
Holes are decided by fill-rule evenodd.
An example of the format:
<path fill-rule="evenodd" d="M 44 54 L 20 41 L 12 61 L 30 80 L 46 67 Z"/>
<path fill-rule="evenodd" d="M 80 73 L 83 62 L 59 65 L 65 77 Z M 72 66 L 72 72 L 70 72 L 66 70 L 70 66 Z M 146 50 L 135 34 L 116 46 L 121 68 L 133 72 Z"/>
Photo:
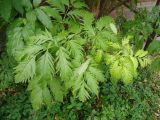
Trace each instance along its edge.
<path fill-rule="evenodd" d="M 87 102 L 79 102 L 73 97 L 64 103 L 53 102 L 51 106 L 33 111 L 29 93 L 23 85 L 16 85 L 0 96 L 0 116 L 2 119 L 24 120 L 153 120 L 159 119 L 159 79 L 153 73 L 143 70 L 137 80 L 128 86 L 113 85 L 110 80 L 101 86 L 99 98 L 92 97 Z M 148 79 L 146 79 L 148 78 Z"/>

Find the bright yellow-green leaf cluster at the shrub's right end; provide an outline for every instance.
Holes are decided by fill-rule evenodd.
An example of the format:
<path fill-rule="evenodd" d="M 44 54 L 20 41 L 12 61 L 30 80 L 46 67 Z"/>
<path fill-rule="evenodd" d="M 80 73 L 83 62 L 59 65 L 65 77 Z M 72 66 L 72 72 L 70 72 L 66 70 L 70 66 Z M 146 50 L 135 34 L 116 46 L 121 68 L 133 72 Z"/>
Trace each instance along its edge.
<path fill-rule="evenodd" d="M 113 83 L 117 83 L 118 80 L 122 80 L 126 85 L 131 83 L 133 78 L 137 77 L 138 64 L 145 67 L 150 63 L 146 51 L 139 50 L 134 54 L 129 45 L 129 37 L 124 38 L 121 44 L 109 42 L 108 47 L 106 64 L 110 65 Z"/>

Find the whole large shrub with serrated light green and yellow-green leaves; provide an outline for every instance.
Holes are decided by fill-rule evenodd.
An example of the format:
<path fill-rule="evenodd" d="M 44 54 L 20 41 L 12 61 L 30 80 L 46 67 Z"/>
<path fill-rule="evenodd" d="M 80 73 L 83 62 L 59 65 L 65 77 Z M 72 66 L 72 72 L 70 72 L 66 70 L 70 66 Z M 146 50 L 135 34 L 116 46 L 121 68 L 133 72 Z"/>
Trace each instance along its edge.
<path fill-rule="evenodd" d="M 135 53 L 111 17 L 96 20 L 79 0 L 22 3 L 24 15 L 7 29 L 7 51 L 17 61 L 15 82 L 28 83 L 35 110 L 67 96 L 82 102 L 98 97 L 99 84 L 106 82 L 104 62 L 112 82 L 126 85 L 137 77 L 138 64 L 149 64 L 146 52 Z"/>

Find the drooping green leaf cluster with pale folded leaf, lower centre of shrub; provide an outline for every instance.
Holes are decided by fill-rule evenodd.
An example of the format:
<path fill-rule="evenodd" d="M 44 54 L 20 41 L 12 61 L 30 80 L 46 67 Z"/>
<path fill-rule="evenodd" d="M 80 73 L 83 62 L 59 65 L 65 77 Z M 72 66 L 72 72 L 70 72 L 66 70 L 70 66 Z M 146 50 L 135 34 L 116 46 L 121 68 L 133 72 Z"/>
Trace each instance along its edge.
<path fill-rule="evenodd" d="M 88 59 L 74 72 L 73 95 L 79 97 L 81 101 L 85 101 L 90 97 L 89 92 L 98 96 L 98 82 L 104 81 L 104 76 L 100 70 L 93 67 Z"/>

